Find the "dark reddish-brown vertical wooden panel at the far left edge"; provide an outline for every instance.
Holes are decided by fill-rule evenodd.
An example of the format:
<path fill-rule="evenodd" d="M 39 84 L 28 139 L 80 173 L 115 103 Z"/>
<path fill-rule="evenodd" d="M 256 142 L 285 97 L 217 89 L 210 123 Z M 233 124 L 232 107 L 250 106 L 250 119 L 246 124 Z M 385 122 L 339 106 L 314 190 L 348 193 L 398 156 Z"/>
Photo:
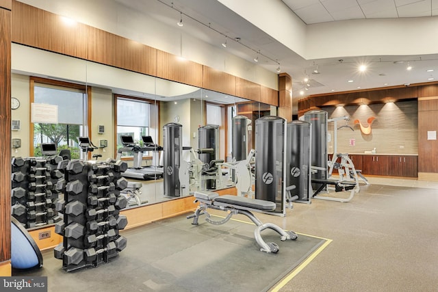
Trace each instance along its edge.
<path fill-rule="evenodd" d="M 0 263 L 11 258 L 11 20 L 0 8 Z"/>

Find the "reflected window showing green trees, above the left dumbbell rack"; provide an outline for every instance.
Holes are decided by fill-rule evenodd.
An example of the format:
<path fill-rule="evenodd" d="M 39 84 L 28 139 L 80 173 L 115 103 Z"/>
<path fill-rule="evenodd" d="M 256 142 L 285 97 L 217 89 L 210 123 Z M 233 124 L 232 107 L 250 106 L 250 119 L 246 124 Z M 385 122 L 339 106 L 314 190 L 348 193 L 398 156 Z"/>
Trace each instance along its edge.
<path fill-rule="evenodd" d="M 50 84 L 49 84 L 50 83 Z M 57 150 L 70 149 L 71 158 L 80 156 L 77 137 L 88 135 L 87 96 L 81 85 L 55 85 L 57 81 L 34 83 L 34 103 L 57 105 L 57 124 L 34 123 L 33 155 L 41 156 L 41 143 L 55 143 Z"/>

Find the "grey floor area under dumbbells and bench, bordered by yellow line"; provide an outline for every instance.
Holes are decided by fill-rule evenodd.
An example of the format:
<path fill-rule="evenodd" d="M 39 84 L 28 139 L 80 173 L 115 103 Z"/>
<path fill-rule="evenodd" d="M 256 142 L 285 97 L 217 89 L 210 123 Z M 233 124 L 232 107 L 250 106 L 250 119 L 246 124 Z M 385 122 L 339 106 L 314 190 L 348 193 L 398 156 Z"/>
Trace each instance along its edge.
<path fill-rule="evenodd" d="M 245 219 L 241 218 L 241 219 Z M 126 230 L 125 250 L 110 263 L 66 272 L 53 252 L 43 252 L 42 269 L 14 276 L 47 276 L 49 291 L 267 291 L 324 243 L 299 235 L 281 241 L 278 254 L 259 251 L 253 224 L 231 220 L 214 226 L 201 216 L 198 226 L 184 216 Z"/>

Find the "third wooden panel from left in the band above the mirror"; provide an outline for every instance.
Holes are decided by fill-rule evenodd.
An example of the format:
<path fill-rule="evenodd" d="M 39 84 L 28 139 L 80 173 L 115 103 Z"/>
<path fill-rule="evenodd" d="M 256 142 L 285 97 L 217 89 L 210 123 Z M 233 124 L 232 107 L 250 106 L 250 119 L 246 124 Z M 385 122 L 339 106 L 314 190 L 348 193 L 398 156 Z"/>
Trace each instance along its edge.
<path fill-rule="evenodd" d="M 203 66 L 157 50 L 157 77 L 202 88 Z"/>

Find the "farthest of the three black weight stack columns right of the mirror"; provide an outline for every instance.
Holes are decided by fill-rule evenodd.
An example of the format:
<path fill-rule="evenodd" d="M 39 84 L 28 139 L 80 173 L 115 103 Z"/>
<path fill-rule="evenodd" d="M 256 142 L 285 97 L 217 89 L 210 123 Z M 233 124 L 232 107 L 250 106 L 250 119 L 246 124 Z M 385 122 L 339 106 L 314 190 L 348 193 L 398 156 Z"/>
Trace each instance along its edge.
<path fill-rule="evenodd" d="M 327 117 L 326 111 L 315 109 L 304 114 L 304 120 L 312 125 L 311 166 L 324 170 L 312 174 L 312 178 L 327 179 Z M 320 184 L 312 184 L 318 189 Z"/>

